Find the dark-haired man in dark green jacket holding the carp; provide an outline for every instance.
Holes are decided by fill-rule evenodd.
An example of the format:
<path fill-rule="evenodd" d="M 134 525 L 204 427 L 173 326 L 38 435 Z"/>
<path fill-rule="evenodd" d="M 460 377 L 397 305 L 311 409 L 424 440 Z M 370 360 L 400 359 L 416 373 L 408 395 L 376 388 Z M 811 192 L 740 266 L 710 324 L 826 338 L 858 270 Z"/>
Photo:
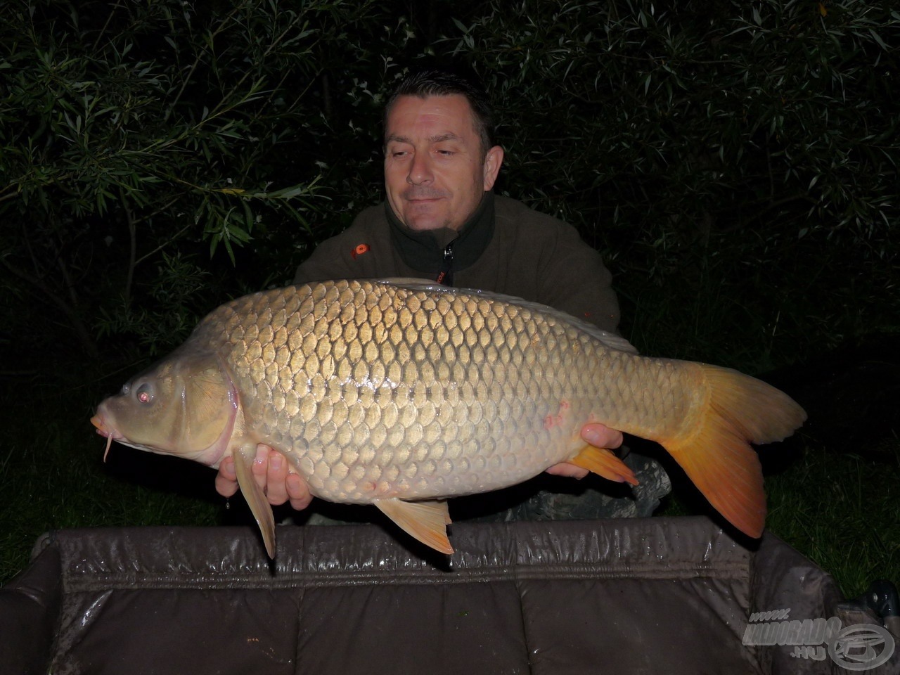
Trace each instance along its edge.
<path fill-rule="evenodd" d="M 502 162 L 480 88 L 440 71 L 407 77 L 384 112 L 386 202 L 317 247 L 294 283 L 424 278 L 542 302 L 615 332 L 618 303 L 599 254 L 571 226 L 495 196 Z M 586 425 L 581 436 L 593 446 L 622 444 L 601 424 Z M 283 455 L 259 446 L 252 471 L 273 505 L 309 506 L 309 490 Z M 563 463 L 547 473 L 587 471 Z M 220 465 L 216 490 L 225 497 L 238 490 L 231 459 Z"/>

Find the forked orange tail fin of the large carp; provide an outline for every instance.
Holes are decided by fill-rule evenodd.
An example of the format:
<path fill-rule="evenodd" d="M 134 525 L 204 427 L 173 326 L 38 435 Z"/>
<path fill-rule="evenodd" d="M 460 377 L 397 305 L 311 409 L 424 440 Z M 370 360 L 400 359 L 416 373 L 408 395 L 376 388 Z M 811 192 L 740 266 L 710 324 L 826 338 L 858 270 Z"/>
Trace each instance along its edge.
<path fill-rule="evenodd" d="M 744 534 L 759 537 L 766 518 L 760 459 L 750 443 L 790 436 L 806 412 L 786 393 L 730 368 L 690 364 L 705 395 L 680 425 L 657 439 L 698 490 Z"/>

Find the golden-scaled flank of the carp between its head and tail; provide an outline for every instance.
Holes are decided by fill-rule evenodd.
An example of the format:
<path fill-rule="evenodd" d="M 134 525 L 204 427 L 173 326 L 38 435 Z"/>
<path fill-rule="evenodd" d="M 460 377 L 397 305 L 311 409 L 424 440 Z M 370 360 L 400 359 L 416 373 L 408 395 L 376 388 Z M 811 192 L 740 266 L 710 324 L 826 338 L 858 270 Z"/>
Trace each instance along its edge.
<path fill-rule="evenodd" d="M 278 289 L 223 305 L 197 337 L 220 345 L 248 426 L 339 502 L 498 489 L 571 457 L 590 415 L 640 426 L 671 397 L 634 372 L 667 362 L 455 291 Z"/>

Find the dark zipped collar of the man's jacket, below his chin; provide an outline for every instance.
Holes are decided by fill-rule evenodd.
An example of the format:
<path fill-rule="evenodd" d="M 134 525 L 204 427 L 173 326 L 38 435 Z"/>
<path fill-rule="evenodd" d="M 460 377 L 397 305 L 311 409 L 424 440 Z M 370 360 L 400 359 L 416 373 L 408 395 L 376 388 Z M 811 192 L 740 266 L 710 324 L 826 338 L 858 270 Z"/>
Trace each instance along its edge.
<path fill-rule="evenodd" d="M 418 271 L 437 273 L 444 264 L 444 249 L 453 244 L 454 268 L 463 270 L 478 260 L 494 234 L 494 193 L 485 192 L 462 229 L 441 228 L 414 230 L 401 223 L 385 200 L 384 212 L 391 230 L 391 243 L 400 252 L 406 266 Z"/>

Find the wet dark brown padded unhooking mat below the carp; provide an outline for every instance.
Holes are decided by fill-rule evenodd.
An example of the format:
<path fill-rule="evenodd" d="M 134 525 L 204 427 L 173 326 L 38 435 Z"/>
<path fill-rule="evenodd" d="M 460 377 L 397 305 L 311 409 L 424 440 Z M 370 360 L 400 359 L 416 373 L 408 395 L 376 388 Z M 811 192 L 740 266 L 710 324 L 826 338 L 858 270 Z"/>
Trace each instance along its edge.
<path fill-rule="evenodd" d="M 272 562 L 249 527 L 42 536 L 0 590 L 0 671 L 849 672 L 831 576 L 707 518 L 463 523 L 451 556 L 376 525 L 277 539 Z"/>

